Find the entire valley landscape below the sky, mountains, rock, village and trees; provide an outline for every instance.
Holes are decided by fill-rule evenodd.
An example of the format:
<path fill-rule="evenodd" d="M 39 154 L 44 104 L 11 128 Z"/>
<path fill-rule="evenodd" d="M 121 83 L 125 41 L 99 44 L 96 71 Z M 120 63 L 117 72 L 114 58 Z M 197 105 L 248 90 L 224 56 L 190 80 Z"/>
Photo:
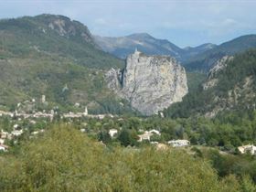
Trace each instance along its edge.
<path fill-rule="evenodd" d="M 0 191 L 255 191 L 255 48 L 1 19 Z"/>

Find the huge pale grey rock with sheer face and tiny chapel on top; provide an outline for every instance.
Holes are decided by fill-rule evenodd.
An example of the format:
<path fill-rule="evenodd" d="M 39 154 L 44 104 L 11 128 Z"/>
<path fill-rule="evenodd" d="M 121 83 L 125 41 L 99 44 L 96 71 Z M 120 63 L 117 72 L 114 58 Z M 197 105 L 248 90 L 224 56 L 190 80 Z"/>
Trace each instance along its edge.
<path fill-rule="evenodd" d="M 130 101 L 133 108 L 152 115 L 182 101 L 187 94 L 186 71 L 176 59 L 146 56 L 135 51 L 126 59 L 123 70 L 111 69 L 106 74 L 110 89 Z"/>

